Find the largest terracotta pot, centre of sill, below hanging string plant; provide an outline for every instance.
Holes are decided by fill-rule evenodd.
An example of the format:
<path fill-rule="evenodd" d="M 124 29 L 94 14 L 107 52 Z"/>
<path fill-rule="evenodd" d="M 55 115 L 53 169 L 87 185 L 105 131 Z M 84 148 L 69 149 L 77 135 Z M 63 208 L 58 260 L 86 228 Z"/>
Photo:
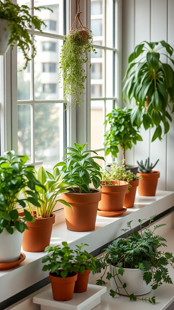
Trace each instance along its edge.
<path fill-rule="evenodd" d="M 61 194 L 61 199 L 67 201 L 74 210 L 64 205 L 67 229 L 85 232 L 95 228 L 98 201 L 101 200 L 101 190 L 98 189 L 97 191 L 97 193 L 89 194 Z"/>

